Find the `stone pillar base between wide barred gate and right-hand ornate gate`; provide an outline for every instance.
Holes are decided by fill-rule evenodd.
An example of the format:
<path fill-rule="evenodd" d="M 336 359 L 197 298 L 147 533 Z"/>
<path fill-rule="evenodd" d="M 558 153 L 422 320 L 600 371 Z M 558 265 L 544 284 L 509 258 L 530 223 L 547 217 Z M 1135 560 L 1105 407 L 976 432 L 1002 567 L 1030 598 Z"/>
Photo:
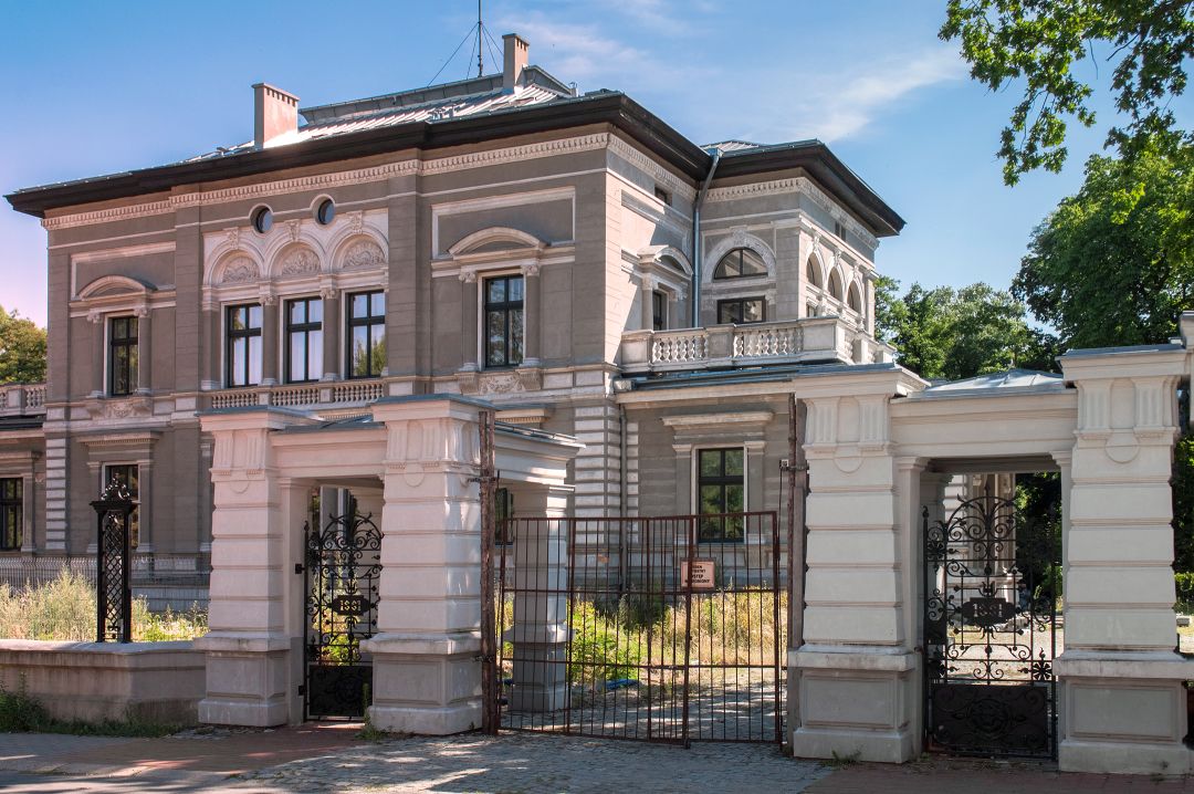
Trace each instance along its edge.
<path fill-rule="evenodd" d="M 788 654 L 800 693 L 798 758 L 901 763 L 916 757 L 917 659 L 893 648 L 814 648 Z"/>

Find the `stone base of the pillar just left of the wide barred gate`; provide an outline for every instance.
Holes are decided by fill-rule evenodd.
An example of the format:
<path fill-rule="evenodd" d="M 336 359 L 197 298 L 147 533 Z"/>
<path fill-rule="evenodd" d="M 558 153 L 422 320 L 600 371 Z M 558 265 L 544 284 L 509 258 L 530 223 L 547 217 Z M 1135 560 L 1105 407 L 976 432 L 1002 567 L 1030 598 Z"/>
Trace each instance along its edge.
<path fill-rule="evenodd" d="M 382 731 L 445 735 L 481 727 L 481 638 L 463 634 L 377 634 L 369 721 Z"/>

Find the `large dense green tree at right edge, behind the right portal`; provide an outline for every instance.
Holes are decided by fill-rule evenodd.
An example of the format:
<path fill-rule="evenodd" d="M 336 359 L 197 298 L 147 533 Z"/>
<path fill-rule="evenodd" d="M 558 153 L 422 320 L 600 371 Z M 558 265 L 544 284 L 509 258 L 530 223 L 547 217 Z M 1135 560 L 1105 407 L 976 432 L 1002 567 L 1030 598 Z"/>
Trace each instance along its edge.
<path fill-rule="evenodd" d="M 1093 156 L 1033 232 L 1011 293 L 1066 347 L 1164 341 L 1194 307 L 1194 146 Z"/>

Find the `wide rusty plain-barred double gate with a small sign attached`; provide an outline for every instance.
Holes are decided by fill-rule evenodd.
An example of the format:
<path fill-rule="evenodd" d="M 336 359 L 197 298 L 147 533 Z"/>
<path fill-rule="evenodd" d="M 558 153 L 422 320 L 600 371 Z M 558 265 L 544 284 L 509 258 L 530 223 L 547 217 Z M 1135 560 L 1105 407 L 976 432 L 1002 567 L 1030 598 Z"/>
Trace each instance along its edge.
<path fill-rule="evenodd" d="M 498 527 L 505 730 L 781 741 L 787 560 L 775 512 Z"/>

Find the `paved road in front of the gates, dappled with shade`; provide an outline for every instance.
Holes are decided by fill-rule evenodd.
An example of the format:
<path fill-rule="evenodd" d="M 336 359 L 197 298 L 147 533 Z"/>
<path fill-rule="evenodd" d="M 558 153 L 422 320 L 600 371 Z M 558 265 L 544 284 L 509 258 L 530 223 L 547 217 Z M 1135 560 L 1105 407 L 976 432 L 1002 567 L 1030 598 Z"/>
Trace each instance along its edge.
<path fill-rule="evenodd" d="M 1048 764 L 933 758 L 900 767 L 832 769 L 784 758 L 773 745 L 690 750 L 560 735 L 413 737 L 376 744 L 349 726 L 215 730 L 162 739 L 0 734 L 0 790 L 436 792 L 464 794 L 1016 794 L 1194 793 L 1194 778 L 1069 775 Z"/>

